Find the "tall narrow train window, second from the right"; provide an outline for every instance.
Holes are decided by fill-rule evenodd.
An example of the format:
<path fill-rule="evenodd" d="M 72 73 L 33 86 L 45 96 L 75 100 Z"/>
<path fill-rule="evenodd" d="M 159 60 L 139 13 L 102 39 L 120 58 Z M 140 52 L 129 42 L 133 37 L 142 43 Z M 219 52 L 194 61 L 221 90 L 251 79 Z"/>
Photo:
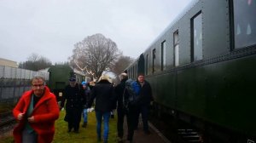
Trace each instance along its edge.
<path fill-rule="evenodd" d="M 196 14 L 191 20 L 192 27 L 192 61 L 202 60 L 202 16 L 201 13 Z"/>

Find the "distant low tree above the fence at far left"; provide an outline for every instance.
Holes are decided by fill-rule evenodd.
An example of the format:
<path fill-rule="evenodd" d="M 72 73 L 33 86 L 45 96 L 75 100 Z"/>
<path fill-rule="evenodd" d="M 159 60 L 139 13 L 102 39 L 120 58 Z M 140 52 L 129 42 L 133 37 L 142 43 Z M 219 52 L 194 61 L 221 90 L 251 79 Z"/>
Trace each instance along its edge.
<path fill-rule="evenodd" d="M 38 71 L 51 66 L 51 61 L 38 54 L 31 54 L 25 62 L 20 62 L 19 67 L 27 70 Z"/>

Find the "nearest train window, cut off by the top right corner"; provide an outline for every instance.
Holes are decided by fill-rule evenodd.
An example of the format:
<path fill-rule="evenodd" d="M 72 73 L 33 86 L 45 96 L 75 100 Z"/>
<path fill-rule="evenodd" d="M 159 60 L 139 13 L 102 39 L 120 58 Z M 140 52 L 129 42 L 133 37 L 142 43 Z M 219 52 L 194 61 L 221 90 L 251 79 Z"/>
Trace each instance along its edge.
<path fill-rule="evenodd" d="M 256 44 L 255 0 L 234 0 L 235 49 Z"/>

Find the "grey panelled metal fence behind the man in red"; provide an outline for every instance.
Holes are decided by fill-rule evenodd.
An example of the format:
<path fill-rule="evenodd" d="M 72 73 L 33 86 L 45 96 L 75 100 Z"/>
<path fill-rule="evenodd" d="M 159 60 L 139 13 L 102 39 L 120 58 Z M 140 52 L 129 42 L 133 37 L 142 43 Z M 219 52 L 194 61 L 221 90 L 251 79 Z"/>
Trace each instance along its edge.
<path fill-rule="evenodd" d="M 31 87 L 32 77 L 39 75 L 49 80 L 49 72 L 0 66 L 0 102 L 16 102 Z"/>

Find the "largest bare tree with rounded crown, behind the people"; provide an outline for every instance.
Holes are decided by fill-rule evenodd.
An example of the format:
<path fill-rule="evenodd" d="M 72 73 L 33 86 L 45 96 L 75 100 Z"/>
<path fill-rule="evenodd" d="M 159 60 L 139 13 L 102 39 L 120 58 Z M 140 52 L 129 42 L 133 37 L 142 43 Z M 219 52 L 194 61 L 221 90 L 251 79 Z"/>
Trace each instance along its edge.
<path fill-rule="evenodd" d="M 111 68 L 121 52 L 116 43 L 102 34 L 85 37 L 76 43 L 73 55 L 69 57 L 70 64 L 94 77 L 100 77 L 106 68 Z"/>

